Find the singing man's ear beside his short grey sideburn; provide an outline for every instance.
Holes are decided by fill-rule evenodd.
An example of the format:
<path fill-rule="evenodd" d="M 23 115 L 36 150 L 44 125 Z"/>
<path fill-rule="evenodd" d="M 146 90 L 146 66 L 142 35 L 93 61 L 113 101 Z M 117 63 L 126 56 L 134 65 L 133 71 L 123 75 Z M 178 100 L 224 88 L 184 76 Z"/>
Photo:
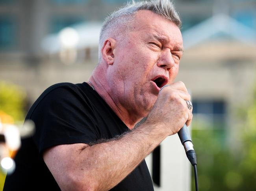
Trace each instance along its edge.
<path fill-rule="evenodd" d="M 113 38 L 107 38 L 101 48 L 102 59 L 109 65 L 114 63 L 115 42 Z"/>

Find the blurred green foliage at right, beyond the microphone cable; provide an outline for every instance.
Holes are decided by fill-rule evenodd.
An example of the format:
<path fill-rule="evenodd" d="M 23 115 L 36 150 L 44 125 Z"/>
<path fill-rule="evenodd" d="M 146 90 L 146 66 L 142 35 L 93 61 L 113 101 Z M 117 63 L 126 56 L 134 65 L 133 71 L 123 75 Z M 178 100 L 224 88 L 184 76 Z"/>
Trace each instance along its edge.
<path fill-rule="evenodd" d="M 238 109 L 237 113 L 242 126 L 239 128 L 241 146 L 236 151 L 231 151 L 224 142 L 227 135 L 224 129 L 193 130 L 201 191 L 256 190 L 256 87 L 250 106 Z M 193 178 L 191 190 L 195 191 Z"/>

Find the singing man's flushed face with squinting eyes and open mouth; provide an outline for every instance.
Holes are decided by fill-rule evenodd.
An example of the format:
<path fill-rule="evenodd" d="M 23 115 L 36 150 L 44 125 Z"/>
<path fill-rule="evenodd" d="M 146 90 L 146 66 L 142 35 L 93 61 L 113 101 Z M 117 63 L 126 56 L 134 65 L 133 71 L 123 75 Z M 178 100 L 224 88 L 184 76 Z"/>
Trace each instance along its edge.
<path fill-rule="evenodd" d="M 160 88 L 174 82 L 182 50 L 182 35 L 174 23 L 152 11 L 138 11 L 126 38 L 117 40 L 108 68 L 114 102 L 146 116 Z"/>

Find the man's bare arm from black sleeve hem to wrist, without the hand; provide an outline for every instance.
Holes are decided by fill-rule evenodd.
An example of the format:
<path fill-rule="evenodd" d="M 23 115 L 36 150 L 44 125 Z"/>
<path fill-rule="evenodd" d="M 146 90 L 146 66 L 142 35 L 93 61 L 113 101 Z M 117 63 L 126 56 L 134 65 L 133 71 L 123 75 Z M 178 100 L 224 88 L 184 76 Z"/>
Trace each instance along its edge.
<path fill-rule="evenodd" d="M 152 131 L 156 129 L 141 126 L 102 144 L 56 146 L 45 152 L 44 160 L 62 190 L 109 190 L 165 138 Z"/>

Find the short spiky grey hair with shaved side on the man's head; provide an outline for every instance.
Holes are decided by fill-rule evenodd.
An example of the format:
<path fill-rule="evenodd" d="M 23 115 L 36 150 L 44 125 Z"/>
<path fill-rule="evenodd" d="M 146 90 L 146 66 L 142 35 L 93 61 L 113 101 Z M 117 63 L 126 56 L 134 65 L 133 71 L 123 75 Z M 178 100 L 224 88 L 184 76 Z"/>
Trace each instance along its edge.
<path fill-rule="evenodd" d="M 181 26 L 180 16 L 174 9 L 174 5 L 169 0 L 149 0 L 142 2 L 127 3 L 121 9 L 109 15 L 101 28 L 99 39 L 99 62 L 101 59 L 101 47 L 110 35 L 122 37 L 124 29 L 127 29 L 128 22 L 134 20 L 134 15 L 139 10 L 149 10 L 170 20 L 178 27 Z"/>

